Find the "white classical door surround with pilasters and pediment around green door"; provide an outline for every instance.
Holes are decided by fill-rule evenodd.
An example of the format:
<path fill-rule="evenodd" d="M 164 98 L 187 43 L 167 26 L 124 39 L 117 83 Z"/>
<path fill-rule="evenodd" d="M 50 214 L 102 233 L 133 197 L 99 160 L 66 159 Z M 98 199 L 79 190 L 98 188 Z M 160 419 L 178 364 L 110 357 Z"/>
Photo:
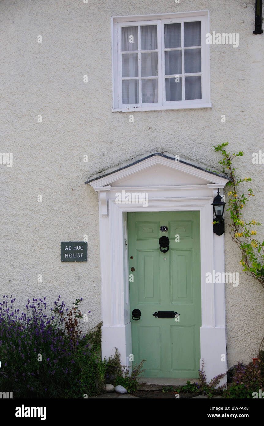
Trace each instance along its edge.
<path fill-rule="evenodd" d="M 213 233 L 213 197 L 228 178 L 208 172 L 171 154 L 154 153 L 89 183 L 99 192 L 99 233 L 102 277 L 102 358 L 121 354 L 130 365 L 126 213 L 132 211 L 200 211 L 202 327 L 201 360 L 207 381 L 227 371 L 225 285 L 207 284 L 206 273 L 224 272 L 224 235 Z M 148 205 L 116 203 L 116 193 L 148 193 Z M 223 190 L 220 191 L 223 193 Z M 223 354 L 225 361 L 222 361 Z"/>

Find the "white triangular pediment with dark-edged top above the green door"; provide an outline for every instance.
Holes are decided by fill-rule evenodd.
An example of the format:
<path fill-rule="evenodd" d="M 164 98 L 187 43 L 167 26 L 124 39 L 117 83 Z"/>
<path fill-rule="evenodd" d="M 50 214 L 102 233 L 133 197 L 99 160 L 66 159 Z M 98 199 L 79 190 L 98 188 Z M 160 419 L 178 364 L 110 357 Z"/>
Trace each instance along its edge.
<path fill-rule="evenodd" d="M 131 164 L 124 164 L 112 170 L 105 170 L 85 183 L 94 189 L 110 187 L 168 187 L 187 185 L 213 185 L 223 187 L 229 178 L 211 172 L 181 158 L 163 153 L 154 153 L 139 158 Z"/>

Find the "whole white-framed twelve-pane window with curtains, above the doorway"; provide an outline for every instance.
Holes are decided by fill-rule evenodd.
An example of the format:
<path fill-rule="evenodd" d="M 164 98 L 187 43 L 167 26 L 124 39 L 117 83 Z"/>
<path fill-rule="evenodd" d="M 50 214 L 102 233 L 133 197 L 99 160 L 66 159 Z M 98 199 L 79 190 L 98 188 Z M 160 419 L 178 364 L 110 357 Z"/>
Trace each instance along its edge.
<path fill-rule="evenodd" d="M 208 12 L 154 17 L 113 18 L 113 110 L 210 107 Z"/>

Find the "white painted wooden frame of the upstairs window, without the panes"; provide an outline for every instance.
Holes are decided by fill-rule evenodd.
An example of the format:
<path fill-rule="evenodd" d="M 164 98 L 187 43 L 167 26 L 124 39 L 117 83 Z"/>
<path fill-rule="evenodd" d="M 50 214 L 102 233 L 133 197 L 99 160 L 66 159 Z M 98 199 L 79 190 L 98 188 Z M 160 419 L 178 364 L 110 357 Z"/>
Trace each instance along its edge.
<path fill-rule="evenodd" d="M 191 99 L 183 101 L 165 100 L 165 69 L 164 69 L 164 25 L 167 23 L 183 23 L 190 21 L 201 21 L 201 51 L 202 51 L 202 72 L 188 73 L 188 75 L 202 75 L 202 99 Z M 158 31 L 158 67 L 159 67 L 159 102 L 153 104 L 122 104 L 122 60 L 121 60 L 121 27 L 136 25 L 157 25 Z M 182 25 L 183 32 L 183 25 Z M 209 44 L 205 43 L 206 34 L 209 33 L 209 11 L 197 11 L 187 13 L 142 15 L 142 16 L 117 16 L 112 17 L 112 73 L 113 73 L 113 112 L 130 111 L 154 111 L 165 109 L 186 109 L 186 108 L 210 108 L 210 69 L 209 69 Z M 140 34 L 140 33 L 139 33 Z M 120 41 L 119 41 L 120 37 Z M 140 45 L 139 45 L 140 46 Z M 199 47 L 199 46 L 196 46 Z M 184 46 L 182 46 L 182 51 Z M 131 51 L 132 52 L 132 51 Z M 140 72 L 139 55 L 139 72 Z M 162 60 L 161 60 L 162 58 Z M 183 62 L 184 63 L 184 62 Z M 183 70 L 182 70 L 183 72 Z M 140 74 L 139 74 L 140 75 Z M 183 74 L 179 75 L 180 77 Z M 184 75 L 183 75 L 184 76 Z M 183 83 L 184 84 L 184 83 Z M 141 92 L 141 85 L 139 90 Z M 183 86 L 184 88 L 184 86 Z"/>

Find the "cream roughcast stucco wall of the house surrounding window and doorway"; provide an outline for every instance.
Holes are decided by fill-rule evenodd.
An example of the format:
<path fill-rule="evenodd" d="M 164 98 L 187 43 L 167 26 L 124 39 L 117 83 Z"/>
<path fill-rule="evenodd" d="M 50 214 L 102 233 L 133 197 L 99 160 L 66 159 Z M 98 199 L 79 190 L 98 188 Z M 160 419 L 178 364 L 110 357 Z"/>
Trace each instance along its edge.
<path fill-rule="evenodd" d="M 0 164 L 1 293 L 15 295 L 18 305 L 33 296 L 51 302 L 60 294 L 67 305 L 83 297 L 82 311 L 91 310 L 88 325 L 100 320 L 98 196 L 84 182 L 136 155 L 167 151 L 215 170 L 220 155 L 212 146 L 228 141 L 230 150 L 245 153 L 238 173 L 253 178 L 246 218 L 261 222 L 264 165 L 253 165 L 252 153 L 263 147 L 264 35 L 253 35 L 255 2 L 243 3 L 0 2 L 0 151 L 13 153 L 13 167 Z M 239 33 L 238 48 L 210 46 L 212 109 L 133 112 L 134 123 L 129 113 L 111 112 L 111 16 L 203 9 L 210 11 L 210 31 Z M 60 241 L 84 234 L 89 261 L 61 264 Z M 225 241 L 226 271 L 240 272 L 238 287 L 226 285 L 230 366 L 257 354 L 264 290 L 242 272 L 227 232 Z"/>

